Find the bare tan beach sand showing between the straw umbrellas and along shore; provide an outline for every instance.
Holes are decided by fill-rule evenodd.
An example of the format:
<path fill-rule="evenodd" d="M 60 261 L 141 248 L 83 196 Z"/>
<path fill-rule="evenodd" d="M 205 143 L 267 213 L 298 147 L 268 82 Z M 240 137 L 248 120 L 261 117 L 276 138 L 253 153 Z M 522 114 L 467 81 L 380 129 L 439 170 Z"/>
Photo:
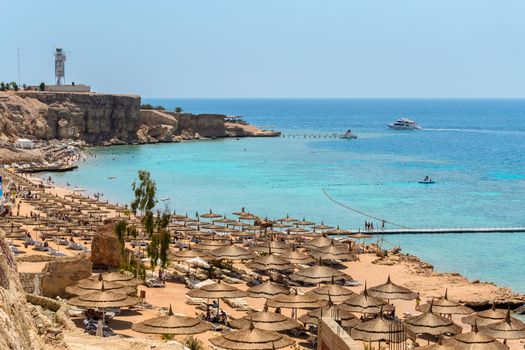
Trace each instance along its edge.
<path fill-rule="evenodd" d="M 37 178 L 29 178 L 34 183 L 40 183 L 41 181 Z M 74 192 L 67 188 L 51 185 L 45 190 L 47 193 L 52 195 L 58 195 L 64 197 L 71 195 Z M 37 212 L 37 209 L 29 202 L 18 199 L 15 208 L 18 208 L 20 216 L 30 216 Z M 17 209 L 18 210 L 18 209 Z M 107 217 L 117 215 L 115 211 L 109 211 Z M 33 227 L 27 227 L 28 232 L 32 235 L 33 239 L 38 239 L 36 232 Z M 45 267 L 46 262 L 38 261 L 31 262 L 30 256 L 42 255 L 45 253 L 33 250 L 31 248 L 25 248 L 20 242 L 13 241 L 21 251 L 18 255 L 20 260 L 18 263 L 19 272 L 40 272 Z M 85 246 L 87 249 L 90 248 L 89 241 L 86 241 Z M 77 252 L 65 249 L 60 245 L 50 241 L 49 246 L 64 252 L 66 255 L 77 254 Z M 249 269 L 240 264 L 238 267 Z M 170 270 L 170 269 L 168 269 Z M 467 303 L 468 305 L 483 305 L 490 302 L 504 303 L 512 301 L 514 304 L 522 303 L 525 300 L 523 295 L 512 292 L 506 288 L 500 288 L 492 283 L 484 283 L 479 281 L 468 281 L 463 276 L 455 273 L 439 273 L 435 272 L 433 268 L 420 261 L 416 257 L 407 256 L 404 254 L 390 254 L 386 257 L 379 257 L 375 253 L 364 253 L 359 256 L 358 261 L 345 262 L 342 272 L 351 276 L 354 280 L 359 282 L 359 286 L 349 287 L 356 293 L 363 290 L 363 286 L 366 283 L 369 287 L 382 284 L 386 281 L 387 277 L 390 276 L 393 282 L 401 286 L 407 287 L 412 291 L 419 293 L 422 302 L 430 300 L 432 298 L 442 297 L 445 291 L 448 291 L 450 299 Z M 246 290 L 248 287 L 245 283 L 235 284 L 240 290 Z M 314 287 L 299 287 L 301 293 L 308 292 Z M 133 338 L 145 338 L 161 340 L 161 337 L 156 335 L 146 335 L 143 333 L 135 332 L 131 330 L 133 323 L 143 321 L 148 318 L 159 316 L 169 308 L 171 305 L 175 314 L 197 317 L 203 315 L 203 310 L 198 309 L 194 305 L 189 305 L 185 302 L 186 293 L 190 291 L 182 283 L 166 282 L 163 288 L 148 288 L 145 286 L 139 287 L 140 291 L 145 291 L 145 305 L 147 307 L 137 307 L 132 311 L 123 310 L 121 315 L 111 320 L 110 327 L 114 332 L 123 337 Z M 264 307 L 264 299 L 245 298 L 249 306 L 254 310 L 262 310 Z M 417 315 L 415 311 L 416 303 L 413 300 L 400 301 L 395 300 L 393 304 L 396 307 L 396 315 L 400 318 L 406 318 L 410 315 Z M 239 311 L 228 306 L 226 303 L 221 303 L 221 307 L 224 311 L 232 318 L 240 318 L 246 315 L 246 311 Z M 305 311 L 299 310 L 298 316 L 304 314 Z M 290 310 L 283 310 L 283 314 L 290 316 Z M 461 325 L 464 331 L 470 330 L 469 325 L 461 323 L 461 317 L 453 317 L 453 320 Z M 82 327 L 82 319 L 77 317 L 73 321 L 79 327 Z M 203 341 L 205 348 L 211 348 L 208 339 L 220 335 L 219 332 L 205 332 L 197 335 L 197 337 Z M 175 339 L 183 340 L 184 336 L 177 336 Z M 304 338 L 296 338 L 299 346 L 308 346 L 308 342 Z M 426 342 L 419 341 L 421 345 L 426 345 Z M 72 345 L 72 348 L 76 347 Z M 510 349 L 517 350 L 523 349 L 523 342 L 514 340 L 509 341 L 508 345 Z"/>

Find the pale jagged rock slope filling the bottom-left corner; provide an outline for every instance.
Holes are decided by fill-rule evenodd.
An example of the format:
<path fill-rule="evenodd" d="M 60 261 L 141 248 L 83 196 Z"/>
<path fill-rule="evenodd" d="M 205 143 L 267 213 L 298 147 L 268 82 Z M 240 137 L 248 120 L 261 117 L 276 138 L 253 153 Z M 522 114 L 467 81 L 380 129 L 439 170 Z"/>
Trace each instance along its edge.
<path fill-rule="evenodd" d="M 25 299 L 16 263 L 0 237 L 0 349 L 44 349 Z"/>

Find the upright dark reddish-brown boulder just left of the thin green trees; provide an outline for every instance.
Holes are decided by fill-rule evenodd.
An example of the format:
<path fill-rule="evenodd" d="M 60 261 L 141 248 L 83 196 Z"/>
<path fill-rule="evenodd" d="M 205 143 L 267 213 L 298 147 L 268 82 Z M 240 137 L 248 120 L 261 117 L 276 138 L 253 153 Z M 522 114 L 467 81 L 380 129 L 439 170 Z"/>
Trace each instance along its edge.
<path fill-rule="evenodd" d="M 120 245 L 114 233 L 115 225 L 102 226 L 93 237 L 91 243 L 91 262 L 95 267 L 119 267 Z"/>

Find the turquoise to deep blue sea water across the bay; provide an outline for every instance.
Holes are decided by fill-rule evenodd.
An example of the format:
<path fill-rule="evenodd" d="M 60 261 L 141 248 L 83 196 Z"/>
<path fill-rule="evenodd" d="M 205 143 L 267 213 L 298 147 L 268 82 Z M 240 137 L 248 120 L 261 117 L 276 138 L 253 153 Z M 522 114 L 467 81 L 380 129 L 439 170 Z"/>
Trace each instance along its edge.
<path fill-rule="evenodd" d="M 55 181 L 129 202 L 137 170 L 157 182 L 159 206 L 286 214 L 358 229 L 367 218 L 330 200 L 408 227 L 525 226 L 525 100 L 144 99 L 173 110 L 243 115 L 284 133 L 342 133 L 356 140 L 246 138 L 91 149 Z M 408 117 L 424 130 L 389 130 Z M 46 174 L 46 176 L 49 174 Z M 434 185 L 417 181 L 429 175 Z M 109 176 L 116 178 L 111 180 Z M 375 224 L 379 223 L 375 221 Z M 392 227 L 393 226 L 387 226 Z M 525 292 L 525 234 L 395 235 L 440 271 Z"/>

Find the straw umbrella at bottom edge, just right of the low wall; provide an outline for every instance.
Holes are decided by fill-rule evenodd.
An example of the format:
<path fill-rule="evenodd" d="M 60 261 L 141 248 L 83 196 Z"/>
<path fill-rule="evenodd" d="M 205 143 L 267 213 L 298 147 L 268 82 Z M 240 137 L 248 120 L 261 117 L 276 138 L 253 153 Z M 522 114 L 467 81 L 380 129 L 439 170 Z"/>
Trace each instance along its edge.
<path fill-rule="evenodd" d="M 354 326 L 350 335 L 355 340 L 379 342 L 379 348 L 382 341 L 401 343 L 407 339 L 401 323 L 383 318 L 382 312 L 376 318 Z"/>

